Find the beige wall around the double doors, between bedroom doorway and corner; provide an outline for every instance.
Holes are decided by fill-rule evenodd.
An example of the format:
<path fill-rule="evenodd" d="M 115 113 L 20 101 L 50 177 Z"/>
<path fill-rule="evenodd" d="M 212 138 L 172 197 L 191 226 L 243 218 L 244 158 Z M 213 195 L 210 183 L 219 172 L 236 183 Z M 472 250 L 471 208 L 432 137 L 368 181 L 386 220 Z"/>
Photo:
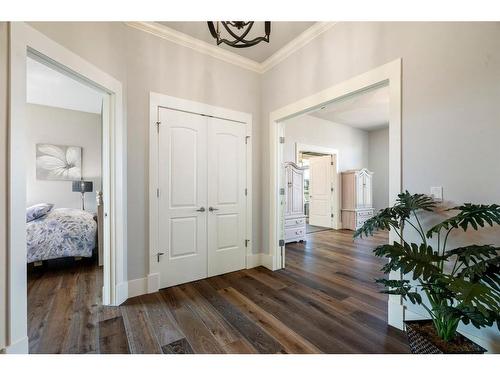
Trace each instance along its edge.
<path fill-rule="evenodd" d="M 261 247 L 260 76 L 123 23 L 31 23 L 120 80 L 127 121 L 128 279 L 148 272 L 149 93 L 159 92 L 253 115 L 253 238 Z"/>

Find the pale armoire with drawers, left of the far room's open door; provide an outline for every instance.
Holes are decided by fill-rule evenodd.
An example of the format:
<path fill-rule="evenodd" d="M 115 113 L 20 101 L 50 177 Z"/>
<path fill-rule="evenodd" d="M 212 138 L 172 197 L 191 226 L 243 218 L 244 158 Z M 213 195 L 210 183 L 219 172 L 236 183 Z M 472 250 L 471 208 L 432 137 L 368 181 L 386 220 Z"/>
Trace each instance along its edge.
<path fill-rule="evenodd" d="M 285 243 L 306 240 L 304 214 L 304 168 L 292 162 L 285 165 Z"/>

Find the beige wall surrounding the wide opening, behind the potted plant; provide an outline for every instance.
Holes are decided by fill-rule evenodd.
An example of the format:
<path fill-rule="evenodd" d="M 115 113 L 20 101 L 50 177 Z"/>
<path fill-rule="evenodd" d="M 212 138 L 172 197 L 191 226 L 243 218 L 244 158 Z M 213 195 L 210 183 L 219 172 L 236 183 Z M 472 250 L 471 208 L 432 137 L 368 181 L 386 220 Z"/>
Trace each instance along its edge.
<path fill-rule="evenodd" d="M 447 205 L 498 203 L 499 40 L 498 22 L 339 23 L 264 74 L 262 122 L 267 128 L 271 111 L 402 58 L 403 189 L 429 193 L 431 186 L 443 186 Z M 268 132 L 262 135 L 267 161 Z M 268 179 L 264 164 L 262 180 Z M 267 184 L 263 189 L 267 243 Z M 472 241 L 498 245 L 500 230 L 459 233 L 454 243 Z M 489 343 L 500 342 L 496 328 L 467 330 Z"/>

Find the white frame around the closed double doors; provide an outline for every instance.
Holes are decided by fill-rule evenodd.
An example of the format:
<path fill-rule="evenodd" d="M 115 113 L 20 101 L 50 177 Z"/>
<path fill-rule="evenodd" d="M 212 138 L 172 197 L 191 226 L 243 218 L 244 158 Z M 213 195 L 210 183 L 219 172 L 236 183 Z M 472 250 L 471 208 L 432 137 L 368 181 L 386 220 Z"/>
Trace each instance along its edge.
<path fill-rule="evenodd" d="M 177 111 L 218 117 L 225 120 L 240 122 L 246 126 L 246 238 L 252 238 L 252 115 L 245 112 L 233 111 L 222 107 L 176 98 L 164 94 L 151 92 L 149 95 L 149 274 L 147 280 L 148 293 L 160 288 L 160 270 L 156 258 L 158 252 L 158 136 L 157 124 L 158 108 L 168 108 Z M 155 225 L 156 223 L 156 225 Z M 246 262 L 252 256 L 252 242 L 246 249 Z"/>

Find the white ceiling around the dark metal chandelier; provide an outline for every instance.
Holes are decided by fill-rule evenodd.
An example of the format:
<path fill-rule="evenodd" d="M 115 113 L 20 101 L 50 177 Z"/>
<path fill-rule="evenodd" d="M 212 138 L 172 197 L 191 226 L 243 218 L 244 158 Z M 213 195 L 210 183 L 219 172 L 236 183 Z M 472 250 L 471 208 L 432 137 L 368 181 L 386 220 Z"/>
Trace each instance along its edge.
<path fill-rule="evenodd" d="M 215 39 L 208 30 L 206 22 L 158 23 L 190 35 L 196 39 L 213 44 L 214 46 L 217 45 Z M 271 22 L 269 43 L 261 42 L 249 48 L 234 48 L 222 43 L 219 47 L 261 63 L 314 24 L 315 22 Z M 248 39 L 252 39 L 259 35 L 264 35 L 264 22 L 255 22 L 252 31 L 248 35 Z"/>

